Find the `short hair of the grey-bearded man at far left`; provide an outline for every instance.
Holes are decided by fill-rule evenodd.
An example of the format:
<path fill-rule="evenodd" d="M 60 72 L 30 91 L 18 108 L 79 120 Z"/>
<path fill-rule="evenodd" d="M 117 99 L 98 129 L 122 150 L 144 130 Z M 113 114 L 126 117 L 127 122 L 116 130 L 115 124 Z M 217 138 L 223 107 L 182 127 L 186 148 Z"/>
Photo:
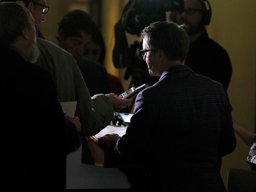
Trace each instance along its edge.
<path fill-rule="evenodd" d="M 0 45 L 10 45 L 22 35 L 24 28 L 31 28 L 29 11 L 14 2 L 0 4 Z"/>

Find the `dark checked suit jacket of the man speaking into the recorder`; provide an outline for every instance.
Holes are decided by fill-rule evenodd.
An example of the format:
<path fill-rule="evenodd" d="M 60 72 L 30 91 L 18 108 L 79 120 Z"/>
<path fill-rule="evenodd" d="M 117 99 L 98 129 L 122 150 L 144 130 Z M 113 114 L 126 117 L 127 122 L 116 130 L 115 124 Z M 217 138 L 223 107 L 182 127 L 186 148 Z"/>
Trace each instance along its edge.
<path fill-rule="evenodd" d="M 137 95 L 114 150 L 123 161 L 146 163 L 146 188 L 226 191 L 218 155 L 236 147 L 231 110 L 221 83 L 174 66 Z"/>

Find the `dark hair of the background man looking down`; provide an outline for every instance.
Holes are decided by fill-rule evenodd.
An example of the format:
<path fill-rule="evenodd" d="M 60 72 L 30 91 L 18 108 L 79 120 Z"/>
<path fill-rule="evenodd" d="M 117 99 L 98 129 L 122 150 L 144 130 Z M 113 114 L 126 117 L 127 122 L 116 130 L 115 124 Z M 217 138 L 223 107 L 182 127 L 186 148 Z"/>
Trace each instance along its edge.
<path fill-rule="evenodd" d="M 63 30 L 65 38 L 80 37 L 80 31 L 92 35 L 93 38 L 99 33 L 99 29 L 90 15 L 79 9 L 72 10 L 62 17 L 58 32 L 60 30 Z"/>

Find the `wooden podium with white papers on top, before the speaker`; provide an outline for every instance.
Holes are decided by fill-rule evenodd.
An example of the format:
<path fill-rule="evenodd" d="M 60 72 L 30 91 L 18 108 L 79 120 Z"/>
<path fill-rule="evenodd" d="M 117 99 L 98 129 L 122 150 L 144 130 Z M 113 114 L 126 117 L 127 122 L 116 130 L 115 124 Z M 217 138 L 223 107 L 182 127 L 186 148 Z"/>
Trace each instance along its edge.
<path fill-rule="evenodd" d="M 101 130 L 95 136 L 86 137 L 89 151 L 91 153 L 94 166 L 98 167 L 115 167 L 113 162 L 110 162 L 110 154 L 105 145 L 98 141 L 98 138 L 106 134 L 118 134 L 120 137 L 125 134 L 127 126 L 109 125 Z"/>

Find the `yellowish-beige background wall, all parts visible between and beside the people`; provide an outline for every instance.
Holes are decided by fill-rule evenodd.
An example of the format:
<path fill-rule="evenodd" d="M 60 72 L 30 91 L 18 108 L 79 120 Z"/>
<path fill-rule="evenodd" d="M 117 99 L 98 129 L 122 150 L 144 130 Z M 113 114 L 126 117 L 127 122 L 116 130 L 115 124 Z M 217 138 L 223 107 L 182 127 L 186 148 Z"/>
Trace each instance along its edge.
<path fill-rule="evenodd" d="M 75 3 L 76 8 L 87 9 L 86 0 L 47 0 L 51 7 L 47 21 L 41 30 L 48 40 L 56 42 L 57 22 Z M 107 70 L 123 79 L 124 70 L 115 69 L 112 63 L 114 47 L 114 24 L 119 19 L 126 0 L 102 0 L 102 32 L 106 41 L 108 55 Z M 209 36 L 219 42 L 228 52 L 233 74 L 228 89 L 233 106 L 233 120 L 247 130 L 255 129 L 256 105 L 256 1 L 255 0 L 211 0 L 212 20 L 207 27 Z M 133 40 L 131 40 L 133 42 Z M 124 88 L 130 81 L 123 80 Z M 249 147 L 237 137 L 236 150 L 223 158 L 221 174 L 226 184 L 230 167 L 250 169 L 246 162 Z M 210 141 L 209 141 L 210 142 Z"/>

